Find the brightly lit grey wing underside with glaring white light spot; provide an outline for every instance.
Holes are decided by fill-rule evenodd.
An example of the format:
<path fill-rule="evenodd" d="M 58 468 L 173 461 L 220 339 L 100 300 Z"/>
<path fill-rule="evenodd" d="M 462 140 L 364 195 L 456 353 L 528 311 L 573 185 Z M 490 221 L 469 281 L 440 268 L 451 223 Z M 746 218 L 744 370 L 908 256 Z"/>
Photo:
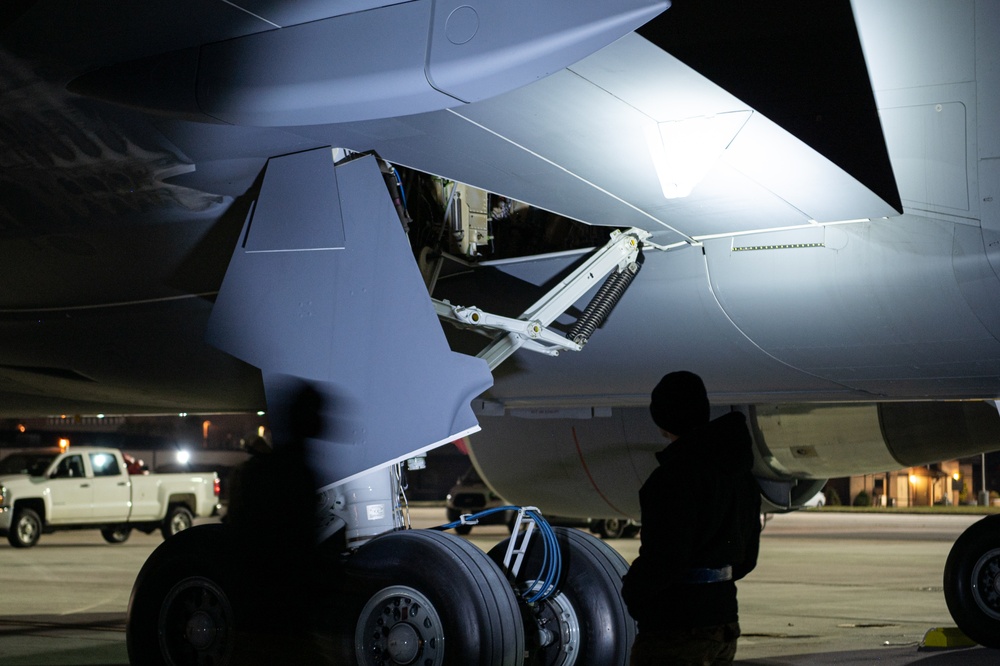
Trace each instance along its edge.
<path fill-rule="evenodd" d="M 661 243 L 896 214 L 823 155 L 634 34 L 484 102 L 310 132 L 590 224 L 644 228 Z M 671 144 L 671 134 L 691 141 Z M 682 173 L 712 155 L 683 198 L 665 198 L 658 178 L 658 168 L 674 169 L 656 163 L 669 152 L 663 135 L 683 152 Z"/>

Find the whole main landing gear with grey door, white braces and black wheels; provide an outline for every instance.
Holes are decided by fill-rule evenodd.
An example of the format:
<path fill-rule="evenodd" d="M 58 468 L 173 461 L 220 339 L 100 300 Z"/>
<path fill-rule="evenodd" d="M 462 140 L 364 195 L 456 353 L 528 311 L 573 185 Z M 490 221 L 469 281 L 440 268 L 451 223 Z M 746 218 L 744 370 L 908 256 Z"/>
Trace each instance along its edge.
<path fill-rule="evenodd" d="M 261 369 L 279 425 L 289 378 L 325 398 L 323 437 L 308 442 L 320 546 L 290 546 L 301 535 L 274 525 L 267 537 L 235 525 L 171 536 L 132 591 L 130 662 L 625 666 L 635 627 L 620 556 L 537 513 L 502 557 L 407 529 L 396 463 L 381 466 L 474 432 L 470 402 L 515 350 L 581 349 L 649 234 L 614 232 L 516 320 L 431 305 L 375 158 L 334 158 L 323 148 L 268 162 L 207 333 Z M 548 329 L 592 288 L 570 338 Z M 479 360 L 453 352 L 438 317 L 493 340 Z"/>

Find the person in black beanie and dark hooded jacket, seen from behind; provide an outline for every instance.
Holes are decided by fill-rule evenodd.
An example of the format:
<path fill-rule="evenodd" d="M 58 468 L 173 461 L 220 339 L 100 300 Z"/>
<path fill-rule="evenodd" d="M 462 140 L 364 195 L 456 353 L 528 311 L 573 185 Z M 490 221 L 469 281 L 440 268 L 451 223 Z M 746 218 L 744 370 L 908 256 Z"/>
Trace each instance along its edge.
<path fill-rule="evenodd" d="M 653 389 L 653 422 L 670 440 L 639 491 L 639 556 L 622 596 L 639 625 L 633 666 L 727 664 L 740 635 L 736 583 L 757 564 L 760 490 L 746 418 L 709 421 L 698 375 Z"/>

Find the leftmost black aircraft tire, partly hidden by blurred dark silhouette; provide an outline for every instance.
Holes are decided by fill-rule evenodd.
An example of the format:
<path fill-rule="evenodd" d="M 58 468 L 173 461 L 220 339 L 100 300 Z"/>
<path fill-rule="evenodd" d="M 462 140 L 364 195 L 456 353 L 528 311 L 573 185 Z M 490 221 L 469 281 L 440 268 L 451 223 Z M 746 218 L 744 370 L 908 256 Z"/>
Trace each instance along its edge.
<path fill-rule="evenodd" d="M 202 525 L 164 541 L 149 556 L 128 604 L 130 664 L 237 663 L 240 604 L 232 595 L 238 579 L 228 537 L 223 525 Z"/>

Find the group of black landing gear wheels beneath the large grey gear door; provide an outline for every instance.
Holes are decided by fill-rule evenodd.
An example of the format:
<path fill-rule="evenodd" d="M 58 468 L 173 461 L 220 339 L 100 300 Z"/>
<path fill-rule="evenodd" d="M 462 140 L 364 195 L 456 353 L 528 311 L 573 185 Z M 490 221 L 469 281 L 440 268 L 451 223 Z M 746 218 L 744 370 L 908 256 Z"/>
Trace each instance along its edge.
<path fill-rule="evenodd" d="M 373 496 L 358 499 L 373 506 Z M 333 504 L 341 516 L 357 513 L 350 499 Z M 165 540 L 132 590 L 130 663 L 628 664 L 635 623 L 620 594 L 628 564 L 597 537 L 552 528 L 529 509 L 489 553 L 443 531 L 454 525 L 395 521 L 373 535 L 345 522 L 335 536 L 355 547 L 332 555 L 321 547 L 305 582 L 293 560 L 255 559 L 254 541 L 226 525 Z"/>

